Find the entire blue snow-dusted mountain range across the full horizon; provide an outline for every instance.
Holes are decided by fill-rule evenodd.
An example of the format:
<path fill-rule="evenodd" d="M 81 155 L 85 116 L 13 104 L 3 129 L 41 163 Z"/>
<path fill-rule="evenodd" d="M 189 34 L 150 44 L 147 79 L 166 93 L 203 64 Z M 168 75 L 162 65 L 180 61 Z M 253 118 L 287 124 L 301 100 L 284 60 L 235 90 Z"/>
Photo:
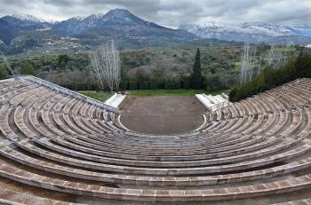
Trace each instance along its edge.
<path fill-rule="evenodd" d="M 173 29 L 143 20 L 125 9 L 72 17 L 60 22 L 48 22 L 28 14 L 7 15 L 0 18 L 0 30 L 3 31 L 0 32 L 2 51 L 43 48 L 44 43 L 62 42 L 62 36 L 64 41 L 69 39 L 69 44 L 82 45 L 83 48 L 96 47 L 108 40 L 115 40 L 121 49 L 189 43 L 204 38 L 248 43 L 311 43 L 311 26 L 306 25 L 283 26 L 261 22 L 229 24 L 214 21 L 180 25 L 178 29 Z M 53 39 L 57 40 L 53 42 Z"/>

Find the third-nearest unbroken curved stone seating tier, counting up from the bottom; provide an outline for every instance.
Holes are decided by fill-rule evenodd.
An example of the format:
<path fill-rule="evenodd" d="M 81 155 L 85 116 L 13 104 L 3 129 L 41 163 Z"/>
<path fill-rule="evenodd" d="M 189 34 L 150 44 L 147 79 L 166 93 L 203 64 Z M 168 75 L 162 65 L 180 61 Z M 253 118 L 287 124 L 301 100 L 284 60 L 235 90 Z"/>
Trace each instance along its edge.
<path fill-rule="evenodd" d="M 13 139 L 11 139 L 13 140 Z M 40 145 L 44 144 L 44 139 L 33 139 L 36 143 L 40 143 Z M 300 139 L 296 140 L 296 143 L 299 143 Z M 219 165 L 219 166 L 209 166 L 209 167 L 196 167 L 196 168 L 171 168 L 171 169 L 159 169 L 159 168 L 140 168 L 140 167 L 126 167 L 126 166 L 118 166 L 118 165 L 110 165 L 104 164 L 102 162 L 91 162 L 76 159 L 76 157 L 68 157 L 62 154 L 52 153 L 47 150 L 43 150 L 38 146 L 32 145 L 28 139 L 14 141 L 16 146 L 19 146 L 22 149 L 27 150 L 32 154 L 37 154 L 41 157 L 50 159 L 55 162 L 61 162 L 68 165 L 73 165 L 81 168 L 88 168 L 92 170 L 103 170 L 103 171 L 114 171 L 117 173 L 127 173 L 127 174 L 136 174 L 136 175 L 158 175 L 158 176 L 179 176 L 179 175 L 199 175 L 199 174 L 208 174 L 208 173 L 221 173 L 221 172 L 229 172 L 236 170 L 247 170 L 251 168 L 266 166 L 269 164 L 273 164 L 275 162 L 283 162 L 286 160 L 290 160 L 293 157 L 297 157 L 301 154 L 306 154 L 310 151 L 309 145 L 298 146 L 296 148 L 292 148 L 291 150 L 281 153 L 275 154 L 273 156 L 267 156 L 261 158 L 259 160 L 253 160 L 248 162 L 239 162 L 236 164 L 230 165 Z M 291 146 L 292 144 L 287 144 L 284 146 Z M 74 151 L 72 151 L 74 152 Z"/>

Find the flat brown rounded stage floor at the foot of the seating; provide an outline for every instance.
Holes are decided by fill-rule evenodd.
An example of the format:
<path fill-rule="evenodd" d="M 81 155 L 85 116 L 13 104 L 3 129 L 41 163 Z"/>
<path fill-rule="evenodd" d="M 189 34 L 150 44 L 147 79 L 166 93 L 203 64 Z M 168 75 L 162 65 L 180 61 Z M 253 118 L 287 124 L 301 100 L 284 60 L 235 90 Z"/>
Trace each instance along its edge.
<path fill-rule="evenodd" d="M 130 130 L 149 134 L 177 134 L 203 123 L 205 107 L 195 97 L 132 97 L 121 106 L 121 122 Z"/>

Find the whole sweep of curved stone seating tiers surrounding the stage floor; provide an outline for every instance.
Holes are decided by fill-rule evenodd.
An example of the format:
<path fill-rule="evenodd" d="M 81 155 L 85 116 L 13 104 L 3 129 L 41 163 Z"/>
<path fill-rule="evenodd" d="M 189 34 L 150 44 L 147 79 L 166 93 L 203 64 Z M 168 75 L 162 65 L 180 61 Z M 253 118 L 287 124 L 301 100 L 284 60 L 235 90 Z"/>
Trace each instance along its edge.
<path fill-rule="evenodd" d="M 310 100 L 299 79 L 156 135 L 76 92 L 4 80 L 0 203 L 311 204 Z"/>

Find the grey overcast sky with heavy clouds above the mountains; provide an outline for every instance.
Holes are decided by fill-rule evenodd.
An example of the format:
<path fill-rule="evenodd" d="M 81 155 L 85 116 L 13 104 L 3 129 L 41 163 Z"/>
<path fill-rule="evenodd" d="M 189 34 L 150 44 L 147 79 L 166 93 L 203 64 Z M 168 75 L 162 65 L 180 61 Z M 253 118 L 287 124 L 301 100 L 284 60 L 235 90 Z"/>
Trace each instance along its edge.
<path fill-rule="evenodd" d="M 45 20 L 66 20 L 115 8 L 171 28 L 204 21 L 311 25 L 311 0 L 0 0 L 0 16 L 23 13 Z"/>

